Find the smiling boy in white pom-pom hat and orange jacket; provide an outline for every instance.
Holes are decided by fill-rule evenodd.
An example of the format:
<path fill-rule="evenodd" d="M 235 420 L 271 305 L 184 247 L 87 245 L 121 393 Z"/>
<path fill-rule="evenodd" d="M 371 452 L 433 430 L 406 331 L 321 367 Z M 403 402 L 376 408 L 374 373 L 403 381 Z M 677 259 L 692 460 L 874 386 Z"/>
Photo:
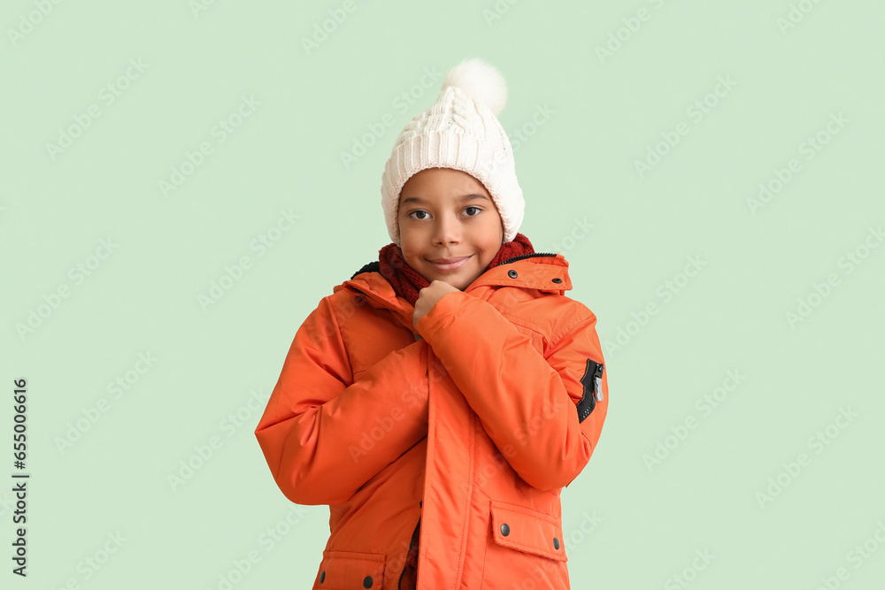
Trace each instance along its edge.
<path fill-rule="evenodd" d="M 299 327 L 256 428 L 282 492 L 328 504 L 314 588 L 568 588 L 559 493 L 608 407 L 596 317 L 518 233 L 500 73 L 466 60 L 405 126 L 392 242 Z"/>

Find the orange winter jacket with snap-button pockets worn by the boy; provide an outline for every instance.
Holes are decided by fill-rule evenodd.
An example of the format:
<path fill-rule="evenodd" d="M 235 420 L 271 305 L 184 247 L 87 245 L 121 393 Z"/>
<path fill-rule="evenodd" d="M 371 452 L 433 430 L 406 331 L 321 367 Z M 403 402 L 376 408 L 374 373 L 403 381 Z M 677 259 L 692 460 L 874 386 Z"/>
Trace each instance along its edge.
<path fill-rule="evenodd" d="M 405 587 L 419 539 L 421 590 L 568 588 L 559 493 L 596 448 L 608 385 L 565 257 L 490 268 L 418 334 L 377 268 L 298 328 L 255 430 L 283 494 L 329 505 L 312 587 Z"/>

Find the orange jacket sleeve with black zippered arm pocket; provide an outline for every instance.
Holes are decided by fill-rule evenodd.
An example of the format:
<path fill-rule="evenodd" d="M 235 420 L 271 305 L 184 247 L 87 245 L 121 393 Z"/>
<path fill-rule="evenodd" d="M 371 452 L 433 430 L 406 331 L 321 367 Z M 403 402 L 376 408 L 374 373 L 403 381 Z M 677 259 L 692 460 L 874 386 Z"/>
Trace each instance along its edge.
<path fill-rule="evenodd" d="M 463 292 L 443 295 L 416 326 L 513 470 L 541 490 L 581 473 L 608 410 L 596 316 L 584 310 L 545 355 L 491 303 Z"/>

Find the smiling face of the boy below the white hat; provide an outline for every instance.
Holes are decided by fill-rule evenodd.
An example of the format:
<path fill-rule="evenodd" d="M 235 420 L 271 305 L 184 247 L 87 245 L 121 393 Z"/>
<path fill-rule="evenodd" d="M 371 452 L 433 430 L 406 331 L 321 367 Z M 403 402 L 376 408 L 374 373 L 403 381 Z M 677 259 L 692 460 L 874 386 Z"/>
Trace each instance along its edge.
<path fill-rule="evenodd" d="M 489 266 L 504 243 L 504 225 L 489 191 L 470 174 L 427 168 L 399 195 L 403 257 L 428 282 L 444 280 L 464 290 Z M 456 264 L 438 258 L 467 257 Z"/>

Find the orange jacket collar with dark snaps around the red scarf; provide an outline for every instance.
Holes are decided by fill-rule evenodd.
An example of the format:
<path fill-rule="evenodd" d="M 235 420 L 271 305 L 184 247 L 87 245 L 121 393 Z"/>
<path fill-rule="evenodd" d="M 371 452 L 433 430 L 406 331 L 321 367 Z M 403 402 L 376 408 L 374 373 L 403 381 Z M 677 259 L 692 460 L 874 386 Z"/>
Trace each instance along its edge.
<path fill-rule="evenodd" d="M 504 260 L 473 280 L 464 292 L 477 291 L 473 295 L 479 295 L 482 287 L 522 287 L 563 295 L 572 288 L 572 280 L 569 279 L 568 262 L 563 255 L 536 252 Z M 341 289 L 366 296 L 373 307 L 387 308 L 404 318 L 412 318 L 412 303 L 396 296 L 393 287 L 379 272 L 378 261 L 363 266 L 350 280 L 335 287 L 333 292 Z"/>

